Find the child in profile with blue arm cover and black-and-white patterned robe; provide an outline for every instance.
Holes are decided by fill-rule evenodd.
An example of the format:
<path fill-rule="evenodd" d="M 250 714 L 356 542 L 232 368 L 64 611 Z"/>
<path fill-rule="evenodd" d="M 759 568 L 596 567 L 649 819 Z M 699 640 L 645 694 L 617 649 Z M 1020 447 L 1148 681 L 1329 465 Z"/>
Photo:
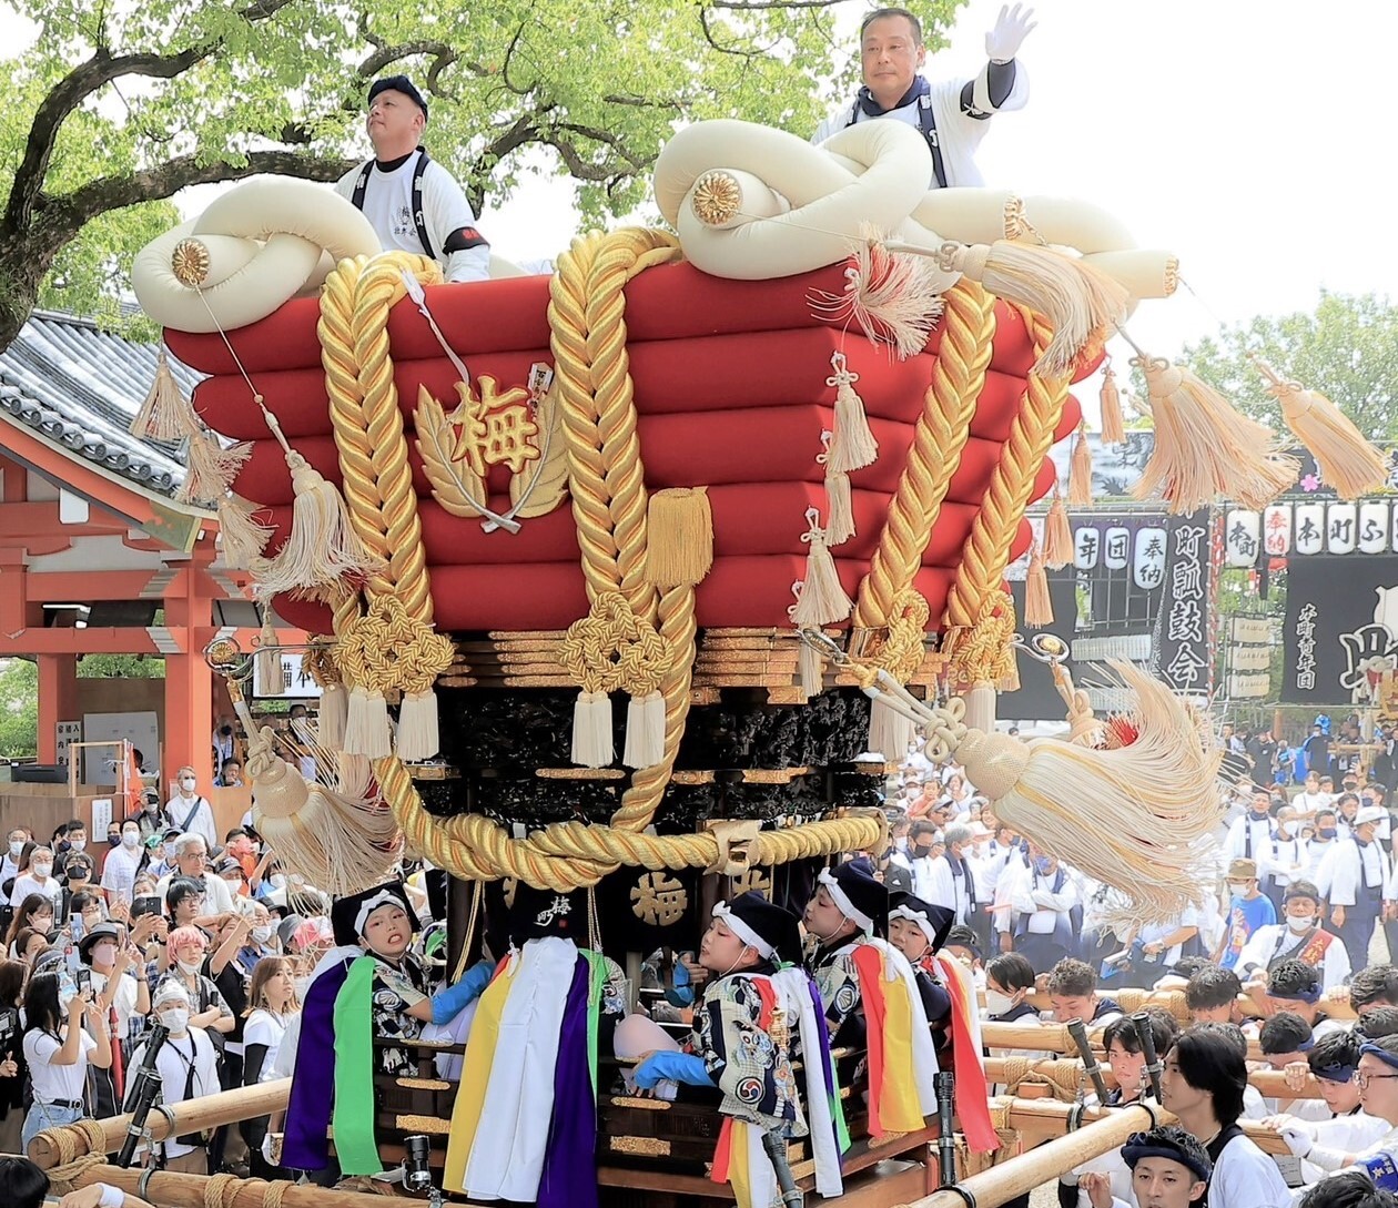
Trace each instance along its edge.
<path fill-rule="evenodd" d="M 710 1177 L 731 1183 L 742 1208 L 766 1208 L 776 1195 L 763 1134 L 809 1135 L 816 1190 L 843 1191 L 839 1096 L 800 951 L 795 916 L 761 893 L 717 903 L 699 947 L 699 963 L 713 976 L 695 1011 L 691 1051 L 654 1051 L 633 1074 L 643 1089 L 672 1081 L 723 1092 L 724 1124 Z M 804 1103 L 791 1071 L 795 1056 L 805 1058 Z"/>

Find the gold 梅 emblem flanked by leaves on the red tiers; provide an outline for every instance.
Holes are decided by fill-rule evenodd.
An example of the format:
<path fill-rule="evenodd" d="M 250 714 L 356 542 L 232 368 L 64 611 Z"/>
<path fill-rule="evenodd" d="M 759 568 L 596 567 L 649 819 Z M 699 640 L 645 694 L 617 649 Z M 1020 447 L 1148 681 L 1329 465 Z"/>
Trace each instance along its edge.
<path fill-rule="evenodd" d="M 547 382 L 548 368 L 538 369 L 542 375 L 534 379 Z M 482 516 L 489 502 L 487 474 L 492 466 L 505 466 L 510 471 L 509 519 L 545 516 L 568 494 L 562 408 L 547 389 L 500 390 L 484 373 L 478 382 L 480 393 L 456 383 L 457 405 L 450 415 L 425 386 L 418 387 L 417 446 L 432 495 L 453 516 Z"/>

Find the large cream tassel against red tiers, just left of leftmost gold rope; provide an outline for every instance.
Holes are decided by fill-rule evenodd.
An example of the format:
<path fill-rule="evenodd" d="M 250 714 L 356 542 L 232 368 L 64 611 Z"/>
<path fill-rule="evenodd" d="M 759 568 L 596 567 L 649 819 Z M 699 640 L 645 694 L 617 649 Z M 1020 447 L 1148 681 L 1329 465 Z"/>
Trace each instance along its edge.
<path fill-rule="evenodd" d="M 380 562 L 350 523 L 345 501 L 334 485 L 295 450 L 287 454 L 296 501 L 291 534 L 277 556 L 256 570 L 261 596 L 331 587 L 347 575 L 368 576 Z M 384 752 L 387 754 L 387 752 Z"/>

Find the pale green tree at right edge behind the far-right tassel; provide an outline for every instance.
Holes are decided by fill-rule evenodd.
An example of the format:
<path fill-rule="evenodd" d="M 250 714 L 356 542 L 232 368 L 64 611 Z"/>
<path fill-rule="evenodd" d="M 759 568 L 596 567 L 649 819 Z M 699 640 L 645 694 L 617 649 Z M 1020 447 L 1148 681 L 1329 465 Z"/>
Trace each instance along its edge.
<path fill-rule="evenodd" d="M 1374 294 L 1321 292 L 1314 312 L 1258 315 L 1184 350 L 1184 361 L 1248 415 L 1281 424 L 1248 354 L 1318 390 L 1369 439 L 1398 438 L 1398 306 Z"/>

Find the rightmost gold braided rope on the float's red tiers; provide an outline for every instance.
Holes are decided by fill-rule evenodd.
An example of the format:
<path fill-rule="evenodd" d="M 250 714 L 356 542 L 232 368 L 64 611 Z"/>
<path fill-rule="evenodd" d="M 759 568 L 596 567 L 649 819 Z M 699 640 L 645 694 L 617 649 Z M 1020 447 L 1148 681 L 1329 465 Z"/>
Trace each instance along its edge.
<path fill-rule="evenodd" d="M 1040 315 L 1028 310 L 1021 313 L 1033 333 L 1035 355 L 1039 355 L 1053 338 L 1053 329 Z M 1039 468 L 1053 445 L 1054 428 L 1058 426 L 1068 398 L 1068 386 L 1067 378 L 1046 382 L 1035 373 L 1029 375 L 1009 425 L 1009 438 L 1001 447 L 991 474 L 986 502 L 976 513 L 962 549 L 962 561 L 946 597 L 944 629 L 974 625 L 991 593 L 1004 593 L 1009 548 L 1019 531 L 1025 508 L 1029 506 Z"/>

